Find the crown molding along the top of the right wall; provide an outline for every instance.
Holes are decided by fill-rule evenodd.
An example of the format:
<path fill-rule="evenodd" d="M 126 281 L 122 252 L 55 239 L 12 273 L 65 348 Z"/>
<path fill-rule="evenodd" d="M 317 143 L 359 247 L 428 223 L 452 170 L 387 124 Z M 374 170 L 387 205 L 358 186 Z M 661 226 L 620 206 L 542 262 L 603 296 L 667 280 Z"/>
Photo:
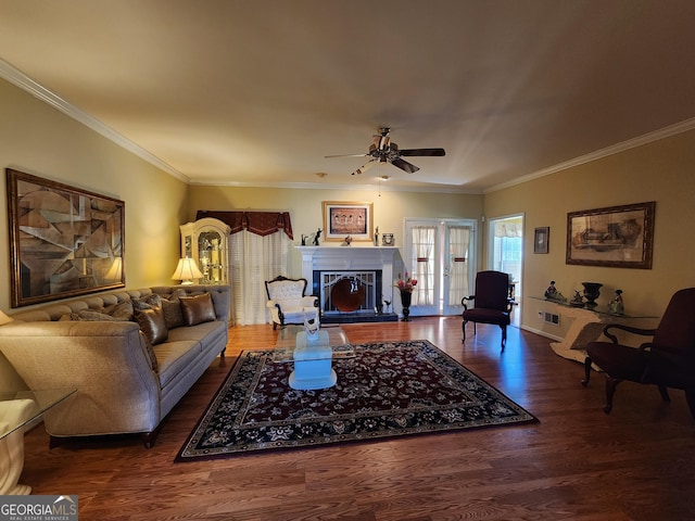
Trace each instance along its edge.
<path fill-rule="evenodd" d="M 597 161 L 603 157 L 608 157 L 609 155 L 618 154 L 620 152 L 626 152 L 631 149 L 636 149 L 637 147 L 643 147 L 645 144 L 649 144 L 665 138 L 670 138 L 679 134 L 687 132 L 688 130 L 693 130 L 693 129 L 695 129 L 695 117 L 685 119 L 684 122 L 675 123 L 673 125 L 669 125 L 668 127 L 664 127 L 658 130 L 654 130 L 653 132 L 647 132 L 643 136 L 637 136 L 636 138 L 628 139 L 627 141 L 622 141 L 620 143 L 611 144 L 610 147 L 596 150 L 585 155 L 580 155 L 579 157 L 574 157 L 573 160 L 566 161 L 565 163 L 559 163 L 548 168 L 543 168 L 542 170 L 538 170 L 533 174 L 521 176 L 513 181 L 503 182 L 501 185 L 497 185 L 495 187 L 492 187 L 485 190 L 483 193 L 496 192 L 498 190 L 521 185 L 523 182 L 527 182 L 533 179 L 539 179 L 541 177 L 557 174 L 558 171 L 563 171 L 568 168 L 584 165 L 586 163 L 591 163 L 592 161 Z"/>

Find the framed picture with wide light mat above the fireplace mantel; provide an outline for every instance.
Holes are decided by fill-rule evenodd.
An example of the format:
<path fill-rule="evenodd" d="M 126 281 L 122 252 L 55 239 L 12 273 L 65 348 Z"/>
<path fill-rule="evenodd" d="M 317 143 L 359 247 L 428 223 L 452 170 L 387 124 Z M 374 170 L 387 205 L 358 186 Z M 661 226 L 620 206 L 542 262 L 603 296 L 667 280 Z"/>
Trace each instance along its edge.
<path fill-rule="evenodd" d="M 372 203 L 324 201 L 326 241 L 371 241 L 374 238 Z"/>

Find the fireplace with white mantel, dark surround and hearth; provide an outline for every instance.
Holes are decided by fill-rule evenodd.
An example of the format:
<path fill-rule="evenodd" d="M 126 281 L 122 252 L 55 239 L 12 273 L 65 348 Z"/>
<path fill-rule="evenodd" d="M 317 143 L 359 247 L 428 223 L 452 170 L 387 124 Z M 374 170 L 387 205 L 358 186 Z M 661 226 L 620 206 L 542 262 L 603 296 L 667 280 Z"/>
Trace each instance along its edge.
<path fill-rule="evenodd" d="M 395 321 L 384 309 L 393 302 L 391 246 L 295 246 L 302 254 L 302 277 L 319 297 L 321 321 L 344 323 Z"/>

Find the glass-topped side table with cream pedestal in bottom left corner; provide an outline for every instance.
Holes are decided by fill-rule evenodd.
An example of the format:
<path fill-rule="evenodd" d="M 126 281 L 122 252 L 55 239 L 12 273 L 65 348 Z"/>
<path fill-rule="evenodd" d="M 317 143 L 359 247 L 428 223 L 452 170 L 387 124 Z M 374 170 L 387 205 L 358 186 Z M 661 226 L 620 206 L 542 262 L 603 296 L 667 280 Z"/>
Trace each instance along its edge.
<path fill-rule="evenodd" d="M 0 495 L 27 495 L 17 481 L 24 468 L 24 428 L 58 406 L 76 390 L 0 393 Z"/>

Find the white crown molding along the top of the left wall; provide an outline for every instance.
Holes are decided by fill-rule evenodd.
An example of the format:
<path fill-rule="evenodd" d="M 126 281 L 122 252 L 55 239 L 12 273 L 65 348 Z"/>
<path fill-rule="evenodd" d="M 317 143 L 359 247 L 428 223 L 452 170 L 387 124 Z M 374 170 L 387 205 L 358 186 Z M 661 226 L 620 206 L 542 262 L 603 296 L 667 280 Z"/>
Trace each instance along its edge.
<path fill-rule="evenodd" d="M 113 141 L 114 143 L 116 143 L 118 147 L 121 147 L 121 148 L 134 153 L 138 157 L 147 161 L 148 163 L 152 164 L 153 166 L 160 168 L 161 170 L 166 171 L 167 174 L 180 179 L 181 181 L 185 181 L 187 183 L 190 182 L 190 179 L 187 176 L 185 176 L 184 174 L 178 171 L 173 166 L 168 165 L 167 163 L 163 162 L 162 160 L 160 160 L 155 155 L 151 154 L 150 152 L 148 152 L 143 148 L 141 148 L 138 144 L 134 143 L 132 141 L 130 141 L 125 136 L 116 132 L 113 128 L 104 125 L 102 122 L 100 122 L 96 117 L 87 114 L 85 111 L 83 111 L 83 110 L 76 107 L 75 105 L 73 105 L 72 103 L 65 101 L 60 96 L 58 96 L 55 92 L 52 92 L 51 90 L 47 89 L 46 87 L 43 87 L 43 86 L 39 85 L 38 82 L 34 81 L 31 78 L 29 78 L 22 71 L 17 69 L 16 67 L 13 67 L 8 62 L 5 62 L 4 60 L 1 60 L 1 59 L 0 59 L 0 78 L 3 78 L 5 80 L 8 80 L 12 85 L 18 87 L 20 89 L 30 93 L 31 96 L 34 96 L 35 98 L 37 98 L 39 100 L 41 100 L 43 103 L 47 103 L 48 105 L 52 106 L 53 109 L 59 110 L 63 114 L 65 114 L 65 115 L 67 115 L 70 117 L 72 117 L 73 119 L 81 123 L 86 127 L 91 128 L 92 130 L 94 130 L 96 132 L 100 134 L 104 138 L 106 138 L 109 140 Z"/>

